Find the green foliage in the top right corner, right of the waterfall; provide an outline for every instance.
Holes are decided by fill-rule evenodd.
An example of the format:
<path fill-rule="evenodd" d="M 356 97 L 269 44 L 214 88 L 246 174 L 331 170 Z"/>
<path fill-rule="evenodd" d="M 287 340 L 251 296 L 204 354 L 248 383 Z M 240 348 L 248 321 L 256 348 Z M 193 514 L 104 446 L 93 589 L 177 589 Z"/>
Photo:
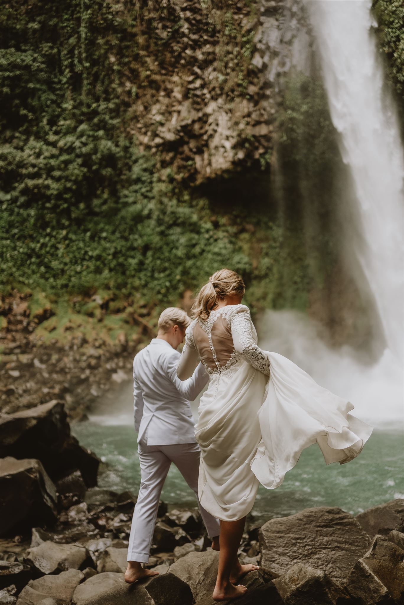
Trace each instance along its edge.
<path fill-rule="evenodd" d="M 402 0 L 373 0 L 380 27 L 380 46 L 389 62 L 391 80 L 404 101 L 404 4 Z"/>

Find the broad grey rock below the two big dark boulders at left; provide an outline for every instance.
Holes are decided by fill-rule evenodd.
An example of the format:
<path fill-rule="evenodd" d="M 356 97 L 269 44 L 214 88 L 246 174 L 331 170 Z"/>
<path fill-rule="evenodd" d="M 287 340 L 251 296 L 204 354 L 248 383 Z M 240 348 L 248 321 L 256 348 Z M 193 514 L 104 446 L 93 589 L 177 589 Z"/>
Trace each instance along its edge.
<path fill-rule="evenodd" d="M 35 567 L 42 574 L 94 567 L 90 551 L 84 546 L 73 544 L 42 542 L 41 545 L 30 548 L 25 558 L 28 564 Z"/>

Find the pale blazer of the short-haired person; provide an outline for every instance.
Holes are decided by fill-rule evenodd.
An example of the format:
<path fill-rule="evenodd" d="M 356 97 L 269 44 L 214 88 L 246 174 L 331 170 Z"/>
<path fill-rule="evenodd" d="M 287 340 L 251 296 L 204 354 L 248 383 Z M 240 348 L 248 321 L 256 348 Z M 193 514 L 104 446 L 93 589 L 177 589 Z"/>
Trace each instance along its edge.
<path fill-rule="evenodd" d="M 180 353 L 162 338 L 153 338 L 133 360 L 133 407 L 137 441 L 147 430 L 148 445 L 195 443 L 189 401 L 206 385 L 208 376 L 198 364 L 191 378 L 180 381 Z"/>

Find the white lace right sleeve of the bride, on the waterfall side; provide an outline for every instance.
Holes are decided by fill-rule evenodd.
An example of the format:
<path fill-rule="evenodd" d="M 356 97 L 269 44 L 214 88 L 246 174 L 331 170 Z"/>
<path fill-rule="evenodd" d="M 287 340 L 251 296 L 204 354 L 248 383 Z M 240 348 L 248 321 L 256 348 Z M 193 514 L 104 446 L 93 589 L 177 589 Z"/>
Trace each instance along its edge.
<path fill-rule="evenodd" d="M 235 310 L 230 318 L 230 327 L 235 350 L 253 368 L 269 376 L 269 359 L 253 338 L 252 321 L 248 307 L 240 305 L 239 309 Z"/>

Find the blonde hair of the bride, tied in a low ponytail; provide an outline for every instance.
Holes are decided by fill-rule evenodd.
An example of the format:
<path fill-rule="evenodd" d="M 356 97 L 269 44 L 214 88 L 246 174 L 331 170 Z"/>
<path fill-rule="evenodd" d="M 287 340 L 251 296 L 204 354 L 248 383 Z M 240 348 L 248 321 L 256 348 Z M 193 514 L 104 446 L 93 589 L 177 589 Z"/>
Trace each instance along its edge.
<path fill-rule="evenodd" d="M 207 319 L 210 311 L 226 296 L 244 296 L 246 286 L 243 278 L 231 269 L 220 269 L 210 276 L 207 284 L 201 287 L 192 306 L 192 317 Z"/>

